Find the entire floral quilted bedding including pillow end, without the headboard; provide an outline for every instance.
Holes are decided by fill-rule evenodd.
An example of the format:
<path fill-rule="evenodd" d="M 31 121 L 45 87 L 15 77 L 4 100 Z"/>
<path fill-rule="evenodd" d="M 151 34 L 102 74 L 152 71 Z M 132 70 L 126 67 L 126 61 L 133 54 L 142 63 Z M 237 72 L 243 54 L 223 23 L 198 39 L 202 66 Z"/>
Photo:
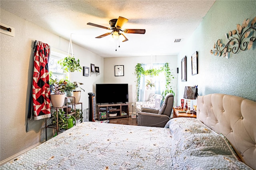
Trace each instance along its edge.
<path fill-rule="evenodd" d="M 194 118 L 166 128 L 84 122 L 40 144 L 0 170 L 250 169 L 227 142 Z"/>

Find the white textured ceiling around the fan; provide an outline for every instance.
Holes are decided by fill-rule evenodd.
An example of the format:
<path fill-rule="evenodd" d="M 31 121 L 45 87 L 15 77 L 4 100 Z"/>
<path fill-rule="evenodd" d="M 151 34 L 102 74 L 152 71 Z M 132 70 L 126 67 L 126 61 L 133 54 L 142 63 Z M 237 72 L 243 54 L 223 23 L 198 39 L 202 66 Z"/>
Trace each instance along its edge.
<path fill-rule="evenodd" d="M 214 1 L 0 0 L 0 7 L 66 40 L 72 34 L 73 43 L 102 57 L 125 57 L 178 54 Z M 122 30 L 146 29 L 146 33 L 125 34 L 129 41 L 120 42 L 119 48 L 111 36 L 95 38 L 109 30 L 87 25 L 110 27 L 109 20 L 118 16 L 129 19 Z M 174 43 L 176 38 L 182 41 Z"/>

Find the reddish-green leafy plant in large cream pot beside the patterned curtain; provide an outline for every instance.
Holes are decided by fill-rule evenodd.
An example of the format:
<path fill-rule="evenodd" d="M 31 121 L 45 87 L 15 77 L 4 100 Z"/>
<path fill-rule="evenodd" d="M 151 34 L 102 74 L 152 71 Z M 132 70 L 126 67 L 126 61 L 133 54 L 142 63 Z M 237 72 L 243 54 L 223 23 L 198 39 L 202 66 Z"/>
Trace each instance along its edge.
<path fill-rule="evenodd" d="M 52 94 L 50 95 L 52 107 L 62 107 L 65 101 L 65 81 L 59 81 L 58 79 L 51 79 L 52 82 Z"/>

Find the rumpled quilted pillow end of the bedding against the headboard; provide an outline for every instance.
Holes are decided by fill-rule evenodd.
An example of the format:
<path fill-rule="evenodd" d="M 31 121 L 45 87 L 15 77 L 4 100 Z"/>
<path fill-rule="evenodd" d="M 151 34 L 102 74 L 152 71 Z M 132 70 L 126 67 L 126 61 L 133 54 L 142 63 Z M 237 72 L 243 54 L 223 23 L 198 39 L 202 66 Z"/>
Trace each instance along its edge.
<path fill-rule="evenodd" d="M 198 119 L 171 119 L 166 127 L 172 133 L 173 169 L 248 170 L 240 162 L 232 146 Z"/>

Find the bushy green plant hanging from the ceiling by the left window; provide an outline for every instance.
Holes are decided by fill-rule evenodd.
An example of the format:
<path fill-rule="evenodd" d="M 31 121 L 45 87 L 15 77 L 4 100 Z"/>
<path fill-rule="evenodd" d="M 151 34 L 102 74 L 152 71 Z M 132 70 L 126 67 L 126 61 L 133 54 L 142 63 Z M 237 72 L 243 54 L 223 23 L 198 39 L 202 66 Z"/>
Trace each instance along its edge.
<path fill-rule="evenodd" d="M 79 64 L 79 59 L 76 60 L 74 56 L 71 57 L 70 55 L 68 55 L 63 59 L 60 59 L 58 61 L 58 64 L 60 64 L 64 73 L 82 70 L 82 67 Z"/>

